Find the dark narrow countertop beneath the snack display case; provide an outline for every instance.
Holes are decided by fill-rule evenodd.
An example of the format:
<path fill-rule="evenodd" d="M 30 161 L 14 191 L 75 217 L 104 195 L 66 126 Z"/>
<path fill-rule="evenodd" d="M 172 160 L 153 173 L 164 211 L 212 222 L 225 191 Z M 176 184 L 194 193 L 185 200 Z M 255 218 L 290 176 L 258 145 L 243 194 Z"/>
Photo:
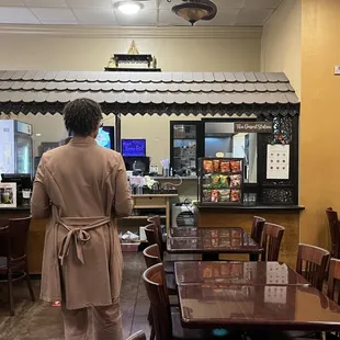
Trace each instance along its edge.
<path fill-rule="evenodd" d="M 224 209 L 224 211 L 304 211 L 302 205 L 229 205 L 223 203 L 199 203 L 200 211 Z"/>

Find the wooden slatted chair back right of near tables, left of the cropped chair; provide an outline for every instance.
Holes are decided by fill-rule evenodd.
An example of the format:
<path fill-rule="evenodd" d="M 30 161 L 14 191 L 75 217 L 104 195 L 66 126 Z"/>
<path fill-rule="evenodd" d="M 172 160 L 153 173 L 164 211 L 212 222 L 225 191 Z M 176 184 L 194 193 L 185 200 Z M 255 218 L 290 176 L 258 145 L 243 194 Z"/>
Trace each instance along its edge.
<path fill-rule="evenodd" d="M 314 287 L 322 291 L 325 273 L 330 253 L 319 247 L 298 245 L 296 272 L 303 275 Z"/>

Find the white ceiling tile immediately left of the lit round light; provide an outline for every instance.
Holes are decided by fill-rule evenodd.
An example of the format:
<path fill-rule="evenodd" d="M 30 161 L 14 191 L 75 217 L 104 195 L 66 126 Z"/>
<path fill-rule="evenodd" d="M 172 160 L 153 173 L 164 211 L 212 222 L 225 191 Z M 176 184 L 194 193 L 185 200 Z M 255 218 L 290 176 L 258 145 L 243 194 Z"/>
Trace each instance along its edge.
<path fill-rule="evenodd" d="M 73 9 L 80 24 L 115 24 L 115 13 L 112 9 Z"/>

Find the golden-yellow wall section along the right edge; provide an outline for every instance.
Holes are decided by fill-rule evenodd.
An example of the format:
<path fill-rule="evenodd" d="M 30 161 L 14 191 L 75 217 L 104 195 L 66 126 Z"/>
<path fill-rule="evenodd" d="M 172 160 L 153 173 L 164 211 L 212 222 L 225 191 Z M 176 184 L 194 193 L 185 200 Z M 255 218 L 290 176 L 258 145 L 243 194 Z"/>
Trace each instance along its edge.
<path fill-rule="evenodd" d="M 328 246 L 325 209 L 340 209 L 340 1 L 303 0 L 301 203 L 302 241 Z"/>

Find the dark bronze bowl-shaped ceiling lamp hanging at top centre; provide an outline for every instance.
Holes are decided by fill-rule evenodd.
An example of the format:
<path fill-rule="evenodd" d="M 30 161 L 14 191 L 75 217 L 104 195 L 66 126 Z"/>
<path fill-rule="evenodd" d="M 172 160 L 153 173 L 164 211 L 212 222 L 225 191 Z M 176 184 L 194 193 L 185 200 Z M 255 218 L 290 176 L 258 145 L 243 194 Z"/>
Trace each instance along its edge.
<path fill-rule="evenodd" d="M 171 0 L 167 0 L 171 2 Z M 212 20 L 217 13 L 217 7 L 211 0 L 182 0 L 183 3 L 172 8 L 172 12 L 189 21 L 192 25 L 199 20 Z"/>

